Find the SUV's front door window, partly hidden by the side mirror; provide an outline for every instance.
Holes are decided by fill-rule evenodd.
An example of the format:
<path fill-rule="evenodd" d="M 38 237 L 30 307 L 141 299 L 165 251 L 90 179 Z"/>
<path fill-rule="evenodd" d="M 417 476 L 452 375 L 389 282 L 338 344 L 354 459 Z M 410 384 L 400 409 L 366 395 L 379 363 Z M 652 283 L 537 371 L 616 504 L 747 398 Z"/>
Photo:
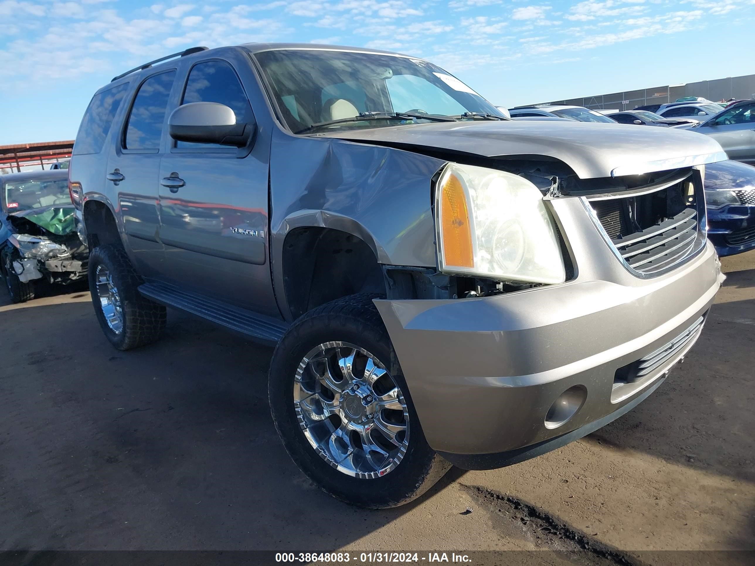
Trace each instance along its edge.
<path fill-rule="evenodd" d="M 197 63 L 189 73 L 181 104 L 217 102 L 225 104 L 236 114 L 236 122 L 249 122 L 251 106 L 236 71 L 223 61 Z M 227 147 L 214 143 L 177 142 L 177 147 Z"/>

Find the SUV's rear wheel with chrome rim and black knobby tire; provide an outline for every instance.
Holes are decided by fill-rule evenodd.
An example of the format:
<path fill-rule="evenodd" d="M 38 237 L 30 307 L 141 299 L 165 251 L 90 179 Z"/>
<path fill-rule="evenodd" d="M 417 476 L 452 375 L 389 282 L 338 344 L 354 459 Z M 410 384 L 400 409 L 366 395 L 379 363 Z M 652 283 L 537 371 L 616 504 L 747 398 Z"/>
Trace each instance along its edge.
<path fill-rule="evenodd" d="M 89 292 L 100 328 L 112 346 L 129 350 L 159 339 L 165 328 L 165 306 L 143 297 L 143 283 L 128 256 L 116 245 L 89 254 Z"/>

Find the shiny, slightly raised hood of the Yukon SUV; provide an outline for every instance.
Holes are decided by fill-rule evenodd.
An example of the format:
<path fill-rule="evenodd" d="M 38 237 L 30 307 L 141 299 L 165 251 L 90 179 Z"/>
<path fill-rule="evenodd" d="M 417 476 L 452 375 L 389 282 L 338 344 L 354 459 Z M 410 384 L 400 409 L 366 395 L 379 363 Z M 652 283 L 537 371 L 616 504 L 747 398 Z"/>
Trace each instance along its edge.
<path fill-rule="evenodd" d="M 563 161 L 582 179 L 664 171 L 726 159 L 720 144 L 704 134 L 589 122 L 436 122 L 318 134 L 323 136 L 485 157 L 545 155 Z"/>

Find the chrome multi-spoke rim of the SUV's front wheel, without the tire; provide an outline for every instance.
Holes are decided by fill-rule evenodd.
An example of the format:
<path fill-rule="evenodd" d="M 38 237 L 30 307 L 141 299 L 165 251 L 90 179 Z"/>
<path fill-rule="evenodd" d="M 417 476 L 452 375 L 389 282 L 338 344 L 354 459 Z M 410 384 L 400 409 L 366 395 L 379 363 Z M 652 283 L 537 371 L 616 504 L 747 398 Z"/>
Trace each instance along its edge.
<path fill-rule="evenodd" d="M 344 474 L 379 478 L 406 454 L 404 395 L 384 365 L 359 346 L 328 342 L 312 349 L 296 371 L 294 408 L 312 448 Z"/>

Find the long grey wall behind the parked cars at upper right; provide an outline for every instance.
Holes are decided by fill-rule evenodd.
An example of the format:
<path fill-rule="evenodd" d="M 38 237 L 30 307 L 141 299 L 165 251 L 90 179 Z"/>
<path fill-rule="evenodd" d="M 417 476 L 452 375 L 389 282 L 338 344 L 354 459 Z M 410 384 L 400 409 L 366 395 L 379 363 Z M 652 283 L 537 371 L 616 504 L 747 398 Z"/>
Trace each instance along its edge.
<path fill-rule="evenodd" d="M 713 81 L 688 82 L 684 85 L 641 88 L 637 91 L 612 92 L 594 97 L 553 100 L 548 104 L 569 104 L 599 110 L 630 110 L 635 106 L 665 104 L 683 97 L 703 97 L 714 102 L 729 100 L 729 98 L 755 98 L 755 75 L 716 78 Z"/>

